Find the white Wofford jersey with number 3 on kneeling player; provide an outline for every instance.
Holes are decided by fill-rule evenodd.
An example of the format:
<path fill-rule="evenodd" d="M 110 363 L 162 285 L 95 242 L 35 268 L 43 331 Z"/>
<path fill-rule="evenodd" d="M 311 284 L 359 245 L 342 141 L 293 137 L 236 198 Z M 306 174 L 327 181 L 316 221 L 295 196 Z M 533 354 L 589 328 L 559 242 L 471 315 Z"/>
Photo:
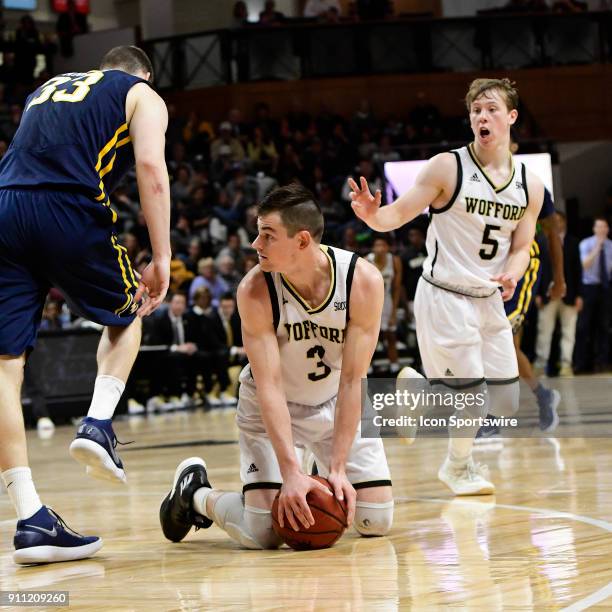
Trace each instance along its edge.
<path fill-rule="evenodd" d="M 317 406 L 338 393 L 351 284 L 358 256 L 321 245 L 329 260 L 330 288 L 323 302 L 311 308 L 278 272 L 265 272 L 280 350 L 287 401 Z M 247 365 L 241 381 L 252 381 Z"/>

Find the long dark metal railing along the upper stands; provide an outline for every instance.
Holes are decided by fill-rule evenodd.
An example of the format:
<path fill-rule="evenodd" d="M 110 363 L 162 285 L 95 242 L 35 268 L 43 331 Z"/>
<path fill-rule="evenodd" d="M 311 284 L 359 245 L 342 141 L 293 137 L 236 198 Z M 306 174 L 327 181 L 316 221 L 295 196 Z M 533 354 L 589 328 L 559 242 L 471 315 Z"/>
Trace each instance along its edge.
<path fill-rule="evenodd" d="M 145 42 L 162 89 L 257 80 L 478 71 L 612 60 L 612 13 L 284 22 Z"/>

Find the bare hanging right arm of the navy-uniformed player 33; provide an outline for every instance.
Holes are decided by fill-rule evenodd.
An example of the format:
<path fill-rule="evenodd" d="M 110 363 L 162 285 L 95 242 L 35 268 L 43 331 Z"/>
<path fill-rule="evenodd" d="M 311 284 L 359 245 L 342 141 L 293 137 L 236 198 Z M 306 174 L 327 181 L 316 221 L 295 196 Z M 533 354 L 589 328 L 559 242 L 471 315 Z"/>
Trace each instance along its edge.
<path fill-rule="evenodd" d="M 138 309 L 138 314 L 145 316 L 164 301 L 170 282 L 170 184 L 164 157 L 168 111 L 148 85 L 139 83 L 128 92 L 126 116 L 140 204 L 153 249 L 153 261 L 145 268 L 135 297 L 136 302 L 146 298 Z"/>

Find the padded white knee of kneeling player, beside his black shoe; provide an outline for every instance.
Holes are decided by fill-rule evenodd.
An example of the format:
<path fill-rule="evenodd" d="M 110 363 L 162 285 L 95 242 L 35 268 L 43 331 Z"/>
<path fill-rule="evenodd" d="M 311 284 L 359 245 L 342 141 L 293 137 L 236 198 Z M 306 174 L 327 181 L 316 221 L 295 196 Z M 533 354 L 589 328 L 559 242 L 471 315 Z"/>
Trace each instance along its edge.
<path fill-rule="evenodd" d="M 272 529 L 272 512 L 245 506 L 240 493 L 224 493 L 214 507 L 215 523 L 241 546 L 251 550 L 278 548 L 282 540 Z"/>

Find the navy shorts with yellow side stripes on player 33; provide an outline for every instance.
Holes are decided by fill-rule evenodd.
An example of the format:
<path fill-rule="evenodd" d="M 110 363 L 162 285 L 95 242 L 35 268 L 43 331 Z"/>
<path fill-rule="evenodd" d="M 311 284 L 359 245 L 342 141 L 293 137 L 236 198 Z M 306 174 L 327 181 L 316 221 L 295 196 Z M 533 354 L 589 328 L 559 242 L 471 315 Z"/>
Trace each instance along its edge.
<path fill-rule="evenodd" d="M 77 193 L 0 189 L 0 355 L 33 348 L 50 287 L 100 325 L 136 316 L 138 281 L 109 208 Z"/>

